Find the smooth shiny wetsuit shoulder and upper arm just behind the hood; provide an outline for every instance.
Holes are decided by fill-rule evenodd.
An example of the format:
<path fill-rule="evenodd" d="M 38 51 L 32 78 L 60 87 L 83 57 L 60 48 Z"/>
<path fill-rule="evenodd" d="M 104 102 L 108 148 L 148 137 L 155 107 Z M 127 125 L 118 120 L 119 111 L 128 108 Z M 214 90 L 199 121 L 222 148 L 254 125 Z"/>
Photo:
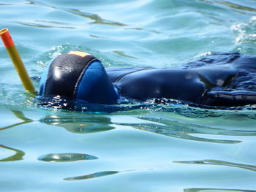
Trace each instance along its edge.
<path fill-rule="evenodd" d="M 182 69 L 147 69 L 121 77 L 117 82 L 119 93 L 132 99 L 156 98 L 197 102 L 206 86 L 195 72 Z"/>

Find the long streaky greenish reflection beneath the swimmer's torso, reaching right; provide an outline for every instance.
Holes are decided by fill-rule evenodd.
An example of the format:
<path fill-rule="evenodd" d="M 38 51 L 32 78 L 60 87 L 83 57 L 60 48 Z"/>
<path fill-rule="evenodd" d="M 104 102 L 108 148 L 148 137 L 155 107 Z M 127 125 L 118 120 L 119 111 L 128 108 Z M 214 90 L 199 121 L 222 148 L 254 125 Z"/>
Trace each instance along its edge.
<path fill-rule="evenodd" d="M 143 131 L 150 131 L 157 134 L 163 134 L 168 137 L 177 137 L 181 139 L 189 139 L 201 142 L 214 142 L 223 144 L 236 144 L 241 141 L 231 139 L 211 139 L 203 137 L 202 134 L 207 135 L 226 135 L 226 136 L 255 136 L 256 131 L 248 130 L 230 130 L 224 128 L 213 128 L 211 126 L 202 126 L 192 123 L 184 123 L 180 120 L 172 120 L 165 118 L 154 117 L 140 117 L 141 120 L 146 120 L 146 123 L 118 123 L 121 125 L 128 125 L 134 128 L 138 128 Z M 202 137 L 195 136 L 201 134 Z M 208 137 L 208 136 L 207 136 Z"/>

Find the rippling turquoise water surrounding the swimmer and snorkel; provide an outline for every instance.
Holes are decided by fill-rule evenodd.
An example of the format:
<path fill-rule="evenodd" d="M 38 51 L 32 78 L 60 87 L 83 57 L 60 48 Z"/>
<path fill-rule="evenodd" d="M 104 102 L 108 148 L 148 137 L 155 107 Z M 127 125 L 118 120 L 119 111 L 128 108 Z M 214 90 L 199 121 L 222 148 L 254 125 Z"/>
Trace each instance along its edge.
<path fill-rule="evenodd" d="M 0 0 L 0 28 L 31 76 L 69 50 L 105 66 L 179 67 L 215 52 L 256 54 L 256 1 Z M 0 75 L 0 191 L 256 191 L 250 107 L 39 108 L 2 44 Z"/>

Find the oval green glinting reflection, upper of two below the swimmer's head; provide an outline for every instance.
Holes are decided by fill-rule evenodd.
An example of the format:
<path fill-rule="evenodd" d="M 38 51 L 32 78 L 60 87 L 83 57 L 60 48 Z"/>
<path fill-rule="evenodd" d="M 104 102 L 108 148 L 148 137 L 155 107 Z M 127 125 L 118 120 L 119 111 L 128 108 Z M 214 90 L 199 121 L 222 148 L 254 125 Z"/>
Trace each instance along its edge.
<path fill-rule="evenodd" d="M 38 158 L 39 161 L 46 162 L 71 162 L 71 161 L 81 161 L 81 160 L 93 160 L 97 157 L 93 155 L 87 155 L 83 153 L 55 153 L 42 155 Z"/>

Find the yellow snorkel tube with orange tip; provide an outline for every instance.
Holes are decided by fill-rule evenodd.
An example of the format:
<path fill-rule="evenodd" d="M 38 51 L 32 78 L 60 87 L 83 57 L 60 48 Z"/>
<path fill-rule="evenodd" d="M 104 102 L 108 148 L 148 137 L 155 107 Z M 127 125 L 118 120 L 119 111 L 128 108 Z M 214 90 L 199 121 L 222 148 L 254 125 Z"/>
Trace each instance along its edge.
<path fill-rule="evenodd" d="M 7 28 L 3 28 L 0 30 L 0 37 L 4 42 L 4 46 L 7 49 L 10 58 L 12 59 L 12 63 L 15 66 L 16 71 L 20 77 L 21 82 L 25 90 L 29 93 L 35 94 L 36 91 L 34 89 L 34 85 L 32 84 L 28 72 L 26 72 L 26 68 L 23 65 L 23 62 L 20 58 L 18 50 L 16 49 L 14 42 L 12 41 L 12 37 Z"/>

